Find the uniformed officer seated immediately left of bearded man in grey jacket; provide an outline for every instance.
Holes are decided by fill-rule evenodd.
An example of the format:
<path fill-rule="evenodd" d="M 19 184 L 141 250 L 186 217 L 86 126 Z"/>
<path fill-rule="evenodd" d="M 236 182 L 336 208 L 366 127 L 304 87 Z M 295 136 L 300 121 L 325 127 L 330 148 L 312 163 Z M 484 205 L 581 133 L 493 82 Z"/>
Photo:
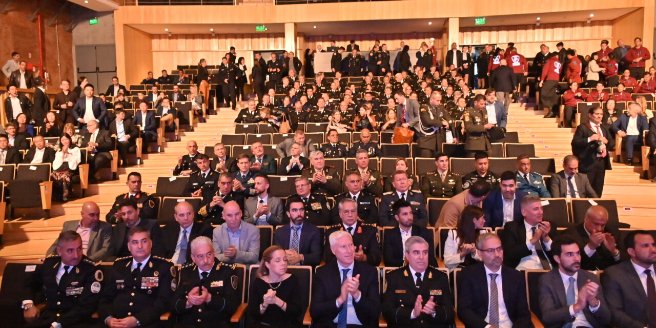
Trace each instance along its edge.
<path fill-rule="evenodd" d="M 230 173 L 219 174 L 216 184 L 218 188 L 207 201 L 203 201 L 196 218 L 210 224 L 223 224 L 223 206 L 228 201 L 236 201 L 239 208 L 244 208 L 244 194 L 232 190 L 233 178 Z"/>

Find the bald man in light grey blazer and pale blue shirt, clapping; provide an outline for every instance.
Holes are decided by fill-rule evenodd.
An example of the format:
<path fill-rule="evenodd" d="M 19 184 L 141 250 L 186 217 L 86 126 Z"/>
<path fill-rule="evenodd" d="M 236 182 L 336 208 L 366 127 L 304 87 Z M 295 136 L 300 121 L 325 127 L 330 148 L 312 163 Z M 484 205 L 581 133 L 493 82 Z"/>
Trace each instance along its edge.
<path fill-rule="evenodd" d="M 260 230 L 241 220 L 241 209 L 236 201 L 223 207 L 224 224 L 212 235 L 215 257 L 221 262 L 256 264 L 260 255 Z"/>

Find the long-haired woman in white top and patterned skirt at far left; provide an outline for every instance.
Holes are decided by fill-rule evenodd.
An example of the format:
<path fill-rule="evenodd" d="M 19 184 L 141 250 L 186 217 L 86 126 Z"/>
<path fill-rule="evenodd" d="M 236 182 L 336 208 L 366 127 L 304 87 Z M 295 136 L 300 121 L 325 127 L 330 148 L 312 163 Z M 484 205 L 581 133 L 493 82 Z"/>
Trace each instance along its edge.
<path fill-rule="evenodd" d="M 68 195 L 73 192 L 71 178 L 77 170 L 77 165 L 82 161 L 82 155 L 80 148 L 73 143 L 68 133 L 60 136 L 59 144 L 61 149 L 54 154 L 54 161 L 52 161 L 52 194 L 55 199 L 68 201 Z"/>

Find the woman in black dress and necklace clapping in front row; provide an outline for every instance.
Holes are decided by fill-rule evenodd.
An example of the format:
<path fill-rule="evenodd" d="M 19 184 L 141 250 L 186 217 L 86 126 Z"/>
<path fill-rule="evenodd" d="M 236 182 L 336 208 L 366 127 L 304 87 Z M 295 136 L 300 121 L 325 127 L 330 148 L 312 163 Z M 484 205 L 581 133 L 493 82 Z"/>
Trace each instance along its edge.
<path fill-rule="evenodd" d="M 260 268 L 249 289 L 251 327 L 300 327 L 297 277 L 287 273 L 287 256 L 279 246 L 264 250 Z"/>

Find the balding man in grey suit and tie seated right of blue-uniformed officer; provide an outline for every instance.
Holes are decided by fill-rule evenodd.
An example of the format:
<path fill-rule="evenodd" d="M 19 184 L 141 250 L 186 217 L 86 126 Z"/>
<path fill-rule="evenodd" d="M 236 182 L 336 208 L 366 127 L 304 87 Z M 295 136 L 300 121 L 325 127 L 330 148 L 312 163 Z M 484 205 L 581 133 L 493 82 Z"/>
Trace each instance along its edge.
<path fill-rule="evenodd" d="M 563 160 L 563 171 L 551 177 L 549 188 L 552 197 L 597 198 L 588 176 L 579 173 L 579 159 L 567 155 Z"/>

